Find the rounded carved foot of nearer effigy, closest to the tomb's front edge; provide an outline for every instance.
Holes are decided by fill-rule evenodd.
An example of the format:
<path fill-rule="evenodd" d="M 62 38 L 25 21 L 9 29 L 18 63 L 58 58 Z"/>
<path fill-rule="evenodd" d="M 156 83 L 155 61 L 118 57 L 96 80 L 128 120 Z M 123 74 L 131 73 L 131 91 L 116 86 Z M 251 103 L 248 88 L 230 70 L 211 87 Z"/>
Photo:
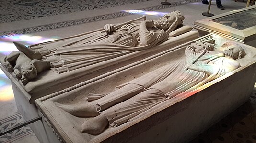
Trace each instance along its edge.
<path fill-rule="evenodd" d="M 108 124 L 109 123 L 105 115 L 100 114 L 97 117 L 90 118 L 85 121 L 81 126 L 81 132 L 98 135 L 103 132 Z"/>

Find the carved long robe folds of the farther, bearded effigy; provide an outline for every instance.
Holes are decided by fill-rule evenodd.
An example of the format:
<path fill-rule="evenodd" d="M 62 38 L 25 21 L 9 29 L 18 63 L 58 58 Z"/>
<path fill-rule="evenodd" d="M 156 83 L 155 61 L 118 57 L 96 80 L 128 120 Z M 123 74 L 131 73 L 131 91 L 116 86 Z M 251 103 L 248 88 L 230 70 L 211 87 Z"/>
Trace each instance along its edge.
<path fill-rule="evenodd" d="M 145 50 L 168 39 L 163 30 L 154 30 L 147 36 L 150 38 L 157 34 L 155 40 L 145 46 L 137 46 L 140 42 L 139 28 L 140 23 L 130 23 L 110 35 L 99 31 L 30 48 L 37 49 L 49 60 L 52 70 L 62 73 Z"/>

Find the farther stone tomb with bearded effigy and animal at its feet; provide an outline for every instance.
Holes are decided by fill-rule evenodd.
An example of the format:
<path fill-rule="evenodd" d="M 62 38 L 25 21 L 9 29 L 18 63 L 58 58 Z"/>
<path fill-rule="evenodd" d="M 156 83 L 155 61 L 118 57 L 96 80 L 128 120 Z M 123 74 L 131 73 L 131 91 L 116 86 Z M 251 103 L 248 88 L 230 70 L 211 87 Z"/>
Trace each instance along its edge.
<path fill-rule="evenodd" d="M 184 16 L 174 11 L 158 20 L 142 17 L 106 24 L 103 29 L 28 48 L 14 43 L 19 51 L 2 57 L 0 67 L 11 80 L 18 110 L 30 120 L 38 116 L 37 98 L 78 88 L 105 73 L 198 38 L 198 32 L 183 26 L 183 20 Z M 45 133 L 42 123 L 30 127 L 40 142 L 49 142 L 52 134 Z"/>

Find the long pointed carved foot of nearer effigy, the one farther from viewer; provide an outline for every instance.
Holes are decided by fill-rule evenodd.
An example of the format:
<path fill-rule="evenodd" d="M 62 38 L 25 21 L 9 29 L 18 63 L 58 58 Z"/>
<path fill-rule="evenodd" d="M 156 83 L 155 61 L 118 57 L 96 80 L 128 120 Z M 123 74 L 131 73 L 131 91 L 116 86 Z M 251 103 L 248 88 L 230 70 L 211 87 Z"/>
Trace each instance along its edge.
<path fill-rule="evenodd" d="M 88 102 L 61 105 L 59 107 L 62 108 L 64 111 L 77 117 L 95 117 L 99 115 L 94 105 Z"/>

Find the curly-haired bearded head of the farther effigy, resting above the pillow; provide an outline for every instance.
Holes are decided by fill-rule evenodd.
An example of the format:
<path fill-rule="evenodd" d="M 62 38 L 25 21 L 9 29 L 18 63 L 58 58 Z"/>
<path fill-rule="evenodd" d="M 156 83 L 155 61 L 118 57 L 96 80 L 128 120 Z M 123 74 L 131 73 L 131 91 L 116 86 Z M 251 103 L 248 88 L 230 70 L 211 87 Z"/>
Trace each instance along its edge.
<path fill-rule="evenodd" d="M 154 20 L 155 27 L 163 30 L 168 30 L 171 25 L 176 22 L 176 26 L 179 27 L 182 25 L 184 16 L 180 13 L 180 11 L 173 11 L 171 13 L 165 14 L 158 20 Z M 176 20 L 176 21 L 175 21 Z"/>

